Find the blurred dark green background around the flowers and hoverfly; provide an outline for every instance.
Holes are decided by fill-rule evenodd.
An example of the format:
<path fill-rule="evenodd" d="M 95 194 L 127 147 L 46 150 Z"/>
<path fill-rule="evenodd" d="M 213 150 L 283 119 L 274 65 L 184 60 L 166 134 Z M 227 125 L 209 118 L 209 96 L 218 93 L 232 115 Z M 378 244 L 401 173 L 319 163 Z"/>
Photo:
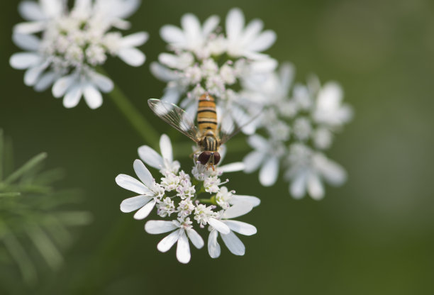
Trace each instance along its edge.
<path fill-rule="evenodd" d="M 150 61 L 165 50 L 160 27 L 179 26 L 187 12 L 201 21 L 213 13 L 224 20 L 238 6 L 247 21 L 262 18 L 265 28 L 276 31 L 268 53 L 293 62 L 296 81 L 314 72 L 322 82 L 343 85 L 355 120 L 328 155 L 349 179 L 343 187 L 328 187 L 318 202 L 292 199 L 284 182 L 263 188 L 257 174 L 233 174 L 233 189 L 262 199 L 243 218 L 258 229 L 242 238 L 246 255 L 225 248 L 212 260 L 206 249 L 193 249 L 189 265 L 180 264 L 174 248 L 157 251 L 162 235 L 148 235 L 144 221 L 119 211 L 130 194 L 114 178 L 133 174 L 143 144 L 138 134 L 108 96 L 96 111 L 83 101 L 68 110 L 50 91 L 24 86 L 23 71 L 9 66 L 18 51 L 11 42 L 12 26 L 21 21 L 18 1 L 2 1 L 0 128 L 13 138 L 18 165 L 48 152 L 48 166 L 67 172 L 59 186 L 85 192 L 75 208 L 94 214 L 90 226 L 77 230 L 77 243 L 65 252 L 59 271 L 41 262 L 39 284 L 25 286 L 9 269 L 17 272 L 15 293 L 434 294 L 434 2 L 144 2 L 130 21 L 131 32 L 150 33 L 141 48 L 147 62 L 132 68 L 113 59 L 105 69 L 159 133 L 175 134 L 146 104 L 164 87 L 149 72 Z M 226 161 L 243 155 L 229 153 Z M 182 158 L 184 167 L 189 161 Z"/>

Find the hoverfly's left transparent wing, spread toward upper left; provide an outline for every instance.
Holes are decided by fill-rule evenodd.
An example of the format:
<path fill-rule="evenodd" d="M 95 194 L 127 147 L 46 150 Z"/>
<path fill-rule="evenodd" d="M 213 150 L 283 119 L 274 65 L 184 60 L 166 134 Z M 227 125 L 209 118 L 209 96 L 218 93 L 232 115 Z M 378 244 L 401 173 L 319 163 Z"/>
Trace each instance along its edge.
<path fill-rule="evenodd" d="M 196 142 L 198 141 L 197 136 L 199 130 L 194 125 L 194 121 L 191 119 L 189 114 L 182 108 L 179 108 L 176 104 L 160 101 L 160 99 L 148 99 L 148 105 L 155 115 L 162 118 L 163 121 L 177 129 L 180 133 L 189 137 L 191 140 Z"/>

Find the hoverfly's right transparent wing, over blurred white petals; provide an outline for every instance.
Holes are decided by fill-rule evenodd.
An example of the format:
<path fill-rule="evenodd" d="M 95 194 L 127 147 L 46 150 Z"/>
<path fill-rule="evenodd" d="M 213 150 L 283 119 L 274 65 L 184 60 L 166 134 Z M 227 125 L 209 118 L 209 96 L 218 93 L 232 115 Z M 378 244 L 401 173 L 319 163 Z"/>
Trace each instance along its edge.
<path fill-rule="evenodd" d="M 220 112 L 221 113 L 221 112 Z M 238 108 L 237 106 L 232 106 L 230 110 L 223 112 L 223 116 L 220 120 L 220 143 L 223 145 L 226 143 L 233 135 L 237 134 L 243 128 L 247 126 L 252 128 L 247 130 L 245 133 L 254 133 L 255 126 L 253 121 L 260 117 L 262 111 L 255 112 L 255 116 L 251 116 L 247 113 L 247 111 L 242 108 Z"/>

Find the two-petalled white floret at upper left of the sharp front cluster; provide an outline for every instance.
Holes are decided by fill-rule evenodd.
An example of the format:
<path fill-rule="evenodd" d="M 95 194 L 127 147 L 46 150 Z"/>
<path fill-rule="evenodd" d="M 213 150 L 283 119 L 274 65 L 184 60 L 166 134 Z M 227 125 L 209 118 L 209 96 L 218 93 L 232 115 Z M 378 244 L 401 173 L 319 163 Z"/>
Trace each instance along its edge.
<path fill-rule="evenodd" d="M 172 143 L 169 136 L 163 134 L 160 137 L 161 155 L 152 147 L 142 145 L 138 148 L 138 155 L 150 167 L 160 169 L 162 174 L 177 174 L 179 171 L 179 162 L 173 160 Z"/>

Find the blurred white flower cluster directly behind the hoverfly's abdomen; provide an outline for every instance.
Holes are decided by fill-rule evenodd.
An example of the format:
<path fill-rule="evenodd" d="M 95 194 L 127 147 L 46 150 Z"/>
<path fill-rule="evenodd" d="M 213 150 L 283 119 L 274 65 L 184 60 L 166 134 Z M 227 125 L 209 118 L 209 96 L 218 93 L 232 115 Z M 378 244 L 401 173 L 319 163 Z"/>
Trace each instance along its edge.
<path fill-rule="evenodd" d="M 218 16 L 209 17 L 201 25 L 188 13 L 182 16 L 181 25 L 162 27 L 160 35 L 172 53 L 161 53 L 159 62 L 151 64 L 152 73 L 167 82 L 162 100 L 178 104 L 182 99 L 180 106 L 194 117 L 199 96 L 208 93 L 216 98 L 219 109 L 230 113 L 227 120 L 237 122 L 257 115 L 255 101 L 242 96 L 240 86 L 276 68 L 277 62 L 262 53 L 274 43 L 274 31 L 262 31 L 259 19 L 245 26 L 240 9 L 229 11 L 226 33 L 218 26 Z"/>

